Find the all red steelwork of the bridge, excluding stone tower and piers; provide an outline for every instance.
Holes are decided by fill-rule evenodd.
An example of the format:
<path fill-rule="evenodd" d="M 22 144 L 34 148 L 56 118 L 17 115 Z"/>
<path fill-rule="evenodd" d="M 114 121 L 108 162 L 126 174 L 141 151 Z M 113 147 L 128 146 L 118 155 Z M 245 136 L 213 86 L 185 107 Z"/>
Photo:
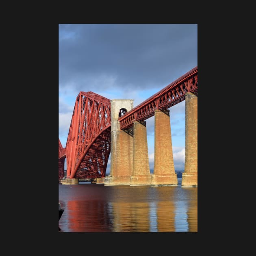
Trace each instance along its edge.
<path fill-rule="evenodd" d="M 133 136 L 135 122 L 145 125 L 145 120 L 156 111 L 168 114 L 168 108 L 185 100 L 188 93 L 197 96 L 197 66 L 129 111 L 119 108 L 118 129 Z M 111 152 L 112 114 L 111 100 L 91 91 L 80 91 L 65 148 L 59 140 L 59 179 L 64 176 L 65 158 L 67 178 L 105 177 Z"/>

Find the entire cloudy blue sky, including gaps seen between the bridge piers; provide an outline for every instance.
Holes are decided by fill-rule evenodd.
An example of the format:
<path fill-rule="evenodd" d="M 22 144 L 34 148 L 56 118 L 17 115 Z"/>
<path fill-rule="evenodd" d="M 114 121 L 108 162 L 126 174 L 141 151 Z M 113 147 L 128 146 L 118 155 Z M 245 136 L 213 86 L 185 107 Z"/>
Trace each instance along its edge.
<path fill-rule="evenodd" d="M 197 24 L 59 24 L 59 139 L 76 97 L 93 91 L 139 105 L 197 66 Z M 185 100 L 169 108 L 175 170 L 184 170 Z M 154 116 L 146 119 L 154 169 Z M 110 156 L 106 172 L 110 171 Z M 66 164 L 65 164 L 66 169 Z"/>

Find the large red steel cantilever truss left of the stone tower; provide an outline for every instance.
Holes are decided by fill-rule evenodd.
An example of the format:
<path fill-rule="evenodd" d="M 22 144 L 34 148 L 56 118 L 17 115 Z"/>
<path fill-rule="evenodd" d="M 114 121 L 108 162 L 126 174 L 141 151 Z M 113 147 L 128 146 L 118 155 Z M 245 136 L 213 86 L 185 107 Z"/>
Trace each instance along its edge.
<path fill-rule="evenodd" d="M 97 93 L 76 98 L 65 154 L 67 178 L 104 177 L 110 154 L 111 103 Z"/>

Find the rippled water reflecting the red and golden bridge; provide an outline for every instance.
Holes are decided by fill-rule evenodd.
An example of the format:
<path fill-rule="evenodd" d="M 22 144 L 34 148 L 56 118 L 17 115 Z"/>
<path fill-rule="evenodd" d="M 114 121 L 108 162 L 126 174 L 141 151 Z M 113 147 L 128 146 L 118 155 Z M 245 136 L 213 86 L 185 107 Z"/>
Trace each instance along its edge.
<path fill-rule="evenodd" d="M 197 188 L 59 184 L 62 232 L 197 232 Z M 57 204 L 56 204 L 57 207 Z"/>

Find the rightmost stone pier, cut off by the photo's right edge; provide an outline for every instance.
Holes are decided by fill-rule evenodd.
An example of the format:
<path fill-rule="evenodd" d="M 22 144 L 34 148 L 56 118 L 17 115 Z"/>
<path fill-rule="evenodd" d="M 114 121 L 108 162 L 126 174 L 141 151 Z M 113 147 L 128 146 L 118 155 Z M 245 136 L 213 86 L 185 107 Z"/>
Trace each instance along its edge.
<path fill-rule="evenodd" d="M 182 174 L 182 187 L 197 187 L 197 96 L 185 95 L 185 167 Z"/>

